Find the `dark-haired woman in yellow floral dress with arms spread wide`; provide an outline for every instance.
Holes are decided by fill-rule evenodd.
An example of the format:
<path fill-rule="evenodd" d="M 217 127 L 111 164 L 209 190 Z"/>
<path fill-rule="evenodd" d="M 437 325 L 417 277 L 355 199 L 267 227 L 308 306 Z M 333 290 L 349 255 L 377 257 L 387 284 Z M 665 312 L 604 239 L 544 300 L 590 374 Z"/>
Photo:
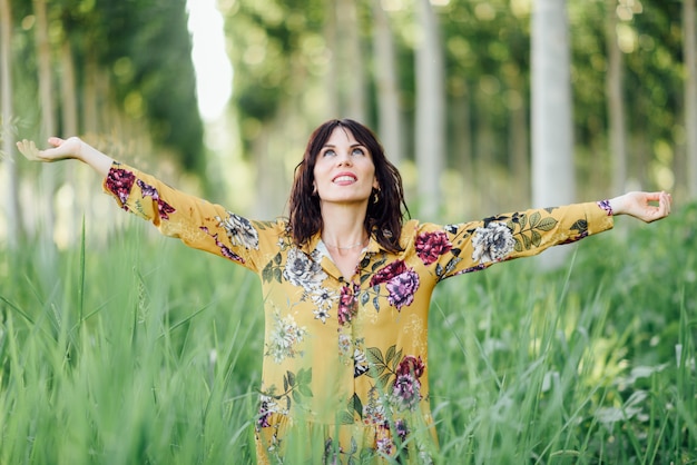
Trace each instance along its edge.
<path fill-rule="evenodd" d="M 665 192 L 630 192 L 475 222 L 404 221 L 399 171 L 370 129 L 344 119 L 311 136 L 289 218 L 251 221 L 78 138 L 49 144 L 47 150 L 26 140 L 18 147 L 29 159 L 90 165 L 125 210 L 259 276 L 266 325 L 255 426 L 259 463 L 291 456 L 429 463 L 435 437 L 426 329 L 435 285 L 610 229 L 613 215 L 648 222 L 671 206 Z"/>

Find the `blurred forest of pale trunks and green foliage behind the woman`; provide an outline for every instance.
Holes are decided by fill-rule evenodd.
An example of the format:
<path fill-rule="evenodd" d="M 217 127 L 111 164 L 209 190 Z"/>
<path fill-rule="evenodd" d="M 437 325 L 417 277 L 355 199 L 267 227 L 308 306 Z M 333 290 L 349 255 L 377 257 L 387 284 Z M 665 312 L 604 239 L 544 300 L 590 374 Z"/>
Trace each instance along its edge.
<path fill-rule="evenodd" d="M 0 0 L 2 243 L 114 224 L 86 167 L 17 158 L 50 135 L 254 218 L 284 214 L 334 117 L 376 131 L 423 219 L 697 197 L 695 0 L 218 0 L 233 73 L 215 119 L 190 59 L 203 1 Z"/>

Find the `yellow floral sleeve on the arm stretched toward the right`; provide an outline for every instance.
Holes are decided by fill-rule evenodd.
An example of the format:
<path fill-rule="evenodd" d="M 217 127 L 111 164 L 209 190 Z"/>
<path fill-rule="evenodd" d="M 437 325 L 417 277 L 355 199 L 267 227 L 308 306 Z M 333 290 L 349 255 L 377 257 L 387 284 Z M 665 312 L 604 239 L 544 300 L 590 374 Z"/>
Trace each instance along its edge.
<path fill-rule="evenodd" d="M 448 226 L 423 224 L 415 254 L 438 280 L 478 271 L 495 263 L 530 257 L 561 244 L 611 229 L 600 202 L 531 209 Z"/>

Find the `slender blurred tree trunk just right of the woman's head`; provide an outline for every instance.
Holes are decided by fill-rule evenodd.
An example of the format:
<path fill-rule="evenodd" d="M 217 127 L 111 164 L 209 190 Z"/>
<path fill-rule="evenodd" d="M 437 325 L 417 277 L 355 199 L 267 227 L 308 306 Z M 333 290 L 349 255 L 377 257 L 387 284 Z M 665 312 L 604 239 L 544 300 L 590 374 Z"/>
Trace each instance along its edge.
<path fill-rule="evenodd" d="M 396 166 L 404 157 L 400 95 L 394 42 L 390 20 L 381 2 L 373 1 L 373 47 L 375 50 L 375 82 L 377 87 L 377 130 L 387 157 Z"/>

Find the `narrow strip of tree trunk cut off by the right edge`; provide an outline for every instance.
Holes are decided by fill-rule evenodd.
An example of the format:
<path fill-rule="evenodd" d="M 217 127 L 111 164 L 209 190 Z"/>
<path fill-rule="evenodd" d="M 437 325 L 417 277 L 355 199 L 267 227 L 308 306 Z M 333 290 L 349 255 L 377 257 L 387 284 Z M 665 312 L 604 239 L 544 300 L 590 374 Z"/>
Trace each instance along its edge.
<path fill-rule="evenodd" d="M 687 135 L 688 189 L 697 198 L 697 32 L 695 0 L 683 2 L 685 53 L 685 132 Z"/>

